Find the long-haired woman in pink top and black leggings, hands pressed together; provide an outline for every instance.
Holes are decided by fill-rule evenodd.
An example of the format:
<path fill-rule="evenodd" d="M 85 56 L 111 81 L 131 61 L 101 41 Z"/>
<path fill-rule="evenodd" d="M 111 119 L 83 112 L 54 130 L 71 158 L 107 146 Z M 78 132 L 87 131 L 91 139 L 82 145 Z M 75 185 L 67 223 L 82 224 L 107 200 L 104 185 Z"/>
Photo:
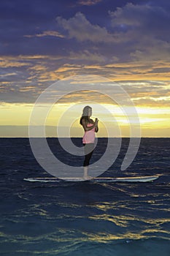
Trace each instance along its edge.
<path fill-rule="evenodd" d="M 96 118 L 95 121 L 93 121 L 93 119 L 90 118 L 91 115 L 92 108 L 90 108 L 90 106 L 85 106 L 85 108 L 83 108 L 82 110 L 82 117 L 80 118 L 80 124 L 85 130 L 85 134 L 82 138 L 82 143 L 85 148 L 85 160 L 83 162 L 83 178 L 85 179 L 91 178 L 90 176 L 88 176 L 88 165 L 90 162 L 90 158 L 93 154 L 95 132 L 98 132 L 98 118 Z"/>

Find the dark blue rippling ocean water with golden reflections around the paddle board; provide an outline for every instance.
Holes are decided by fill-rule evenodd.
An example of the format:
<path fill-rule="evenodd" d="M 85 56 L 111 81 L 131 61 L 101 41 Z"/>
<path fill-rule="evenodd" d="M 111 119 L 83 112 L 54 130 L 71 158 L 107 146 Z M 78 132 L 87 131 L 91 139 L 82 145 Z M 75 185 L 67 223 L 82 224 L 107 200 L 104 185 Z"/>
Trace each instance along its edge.
<path fill-rule="evenodd" d="M 72 140 L 81 145 L 80 138 Z M 170 138 L 142 138 L 134 162 L 121 171 L 128 141 L 104 176 L 160 178 L 133 184 L 23 181 L 50 174 L 36 162 L 27 138 L 1 138 L 0 255 L 169 256 Z M 48 143 L 63 162 L 82 165 L 82 157 L 66 157 L 56 138 Z M 106 145 L 107 139 L 98 139 L 92 162 Z"/>

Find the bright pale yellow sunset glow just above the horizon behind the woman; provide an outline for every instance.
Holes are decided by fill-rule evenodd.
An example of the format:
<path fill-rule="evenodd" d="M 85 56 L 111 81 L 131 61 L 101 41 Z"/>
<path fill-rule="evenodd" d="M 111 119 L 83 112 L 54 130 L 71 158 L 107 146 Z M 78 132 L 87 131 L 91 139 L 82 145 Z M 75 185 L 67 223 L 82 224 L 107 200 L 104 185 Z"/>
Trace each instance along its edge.
<path fill-rule="evenodd" d="M 85 105 L 90 105 L 93 108 L 92 118 L 98 117 L 100 132 L 98 137 L 107 136 L 107 128 L 119 127 L 123 136 L 129 135 L 129 125 L 135 125 L 131 111 L 128 111 L 130 116 L 125 116 L 123 110 L 113 104 L 103 103 L 102 108 L 98 108 L 97 104 L 93 102 L 87 103 L 57 103 L 50 109 L 45 121 L 47 127 L 70 127 L 72 137 L 81 137 L 82 129 L 80 129 L 80 116 L 82 115 L 82 108 Z M 75 108 L 76 106 L 76 108 Z M 39 108 L 42 109 L 45 106 Z M 74 108 L 73 108 L 74 107 Z M 28 126 L 31 111 L 34 104 L 31 103 L 4 103 L 1 105 L 1 129 L 4 126 Z M 106 109 L 106 110 L 105 110 Z M 170 127 L 170 109 L 164 107 L 148 107 L 136 106 L 136 112 L 139 116 L 139 124 L 142 129 L 142 136 L 152 137 L 155 131 L 155 137 L 169 137 Z M 40 111 L 41 113 L 41 111 Z M 39 124 L 34 124 L 38 126 Z M 164 132 L 163 132 L 164 131 Z M 11 129 L 11 137 L 14 137 Z M 2 133 L 4 136 L 4 132 Z M 9 137 L 9 136 L 8 136 Z M 129 137 L 129 136 L 128 136 Z"/>

